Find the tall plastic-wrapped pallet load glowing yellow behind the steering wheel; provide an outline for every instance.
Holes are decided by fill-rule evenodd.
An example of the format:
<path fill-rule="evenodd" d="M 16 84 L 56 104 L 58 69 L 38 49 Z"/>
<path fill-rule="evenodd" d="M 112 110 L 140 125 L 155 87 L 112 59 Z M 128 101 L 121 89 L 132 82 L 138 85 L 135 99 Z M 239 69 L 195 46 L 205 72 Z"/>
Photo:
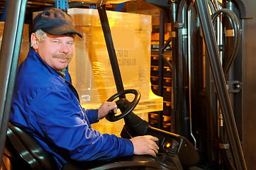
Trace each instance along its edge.
<path fill-rule="evenodd" d="M 74 26 L 83 38 L 77 38 L 74 56 L 69 63 L 72 84 L 84 108 L 99 108 L 117 93 L 108 57 L 99 13 L 96 9 L 69 8 Z M 152 93 L 150 84 L 151 16 L 106 11 L 124 89 L 137 89 L 141 98 L 133 111 L 148 120 L 148 112 L 162 111 L 162 97 Z M 127 96 L 133 100 L 133 95 Z M 119 125 L 122 123 L 119 123 Z M 108 123 L 109 125 L 109 123 Z M 119 129 L 113 123 L 107 132 Z M 121 127 L 123 124 L 121 125 Z M 106 126 L 101 126 L 102 129 Z"/>

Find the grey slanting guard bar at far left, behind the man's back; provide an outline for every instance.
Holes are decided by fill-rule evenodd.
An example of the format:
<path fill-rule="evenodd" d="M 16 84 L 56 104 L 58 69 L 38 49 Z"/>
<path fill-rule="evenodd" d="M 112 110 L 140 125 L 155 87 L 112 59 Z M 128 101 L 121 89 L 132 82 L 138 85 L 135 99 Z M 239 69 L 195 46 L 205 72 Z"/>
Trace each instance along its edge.
<path fill-rule="evenodd" d="M 9 0 L 0 52 L 0 141 L 5 143 L 27 0 Z M 4 145 L 0 146 L 0 160 Z M 1 163 L 0 163 L 1 165 Z"/>

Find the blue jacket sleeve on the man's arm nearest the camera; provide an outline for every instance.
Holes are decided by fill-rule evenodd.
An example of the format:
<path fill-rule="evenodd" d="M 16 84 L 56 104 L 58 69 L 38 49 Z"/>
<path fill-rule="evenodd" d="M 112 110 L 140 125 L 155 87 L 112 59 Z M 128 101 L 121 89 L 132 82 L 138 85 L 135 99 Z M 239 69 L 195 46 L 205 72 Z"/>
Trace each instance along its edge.
<path fill-rule="evenodd" d="M 68 154 L 77 161 L 108 161 L 133 154 L 130 140 L 92 129 L 82 106 L 64 87 L 52 86 L 35 94 L 28 120 L 41 140 L 61 157 Z"/>

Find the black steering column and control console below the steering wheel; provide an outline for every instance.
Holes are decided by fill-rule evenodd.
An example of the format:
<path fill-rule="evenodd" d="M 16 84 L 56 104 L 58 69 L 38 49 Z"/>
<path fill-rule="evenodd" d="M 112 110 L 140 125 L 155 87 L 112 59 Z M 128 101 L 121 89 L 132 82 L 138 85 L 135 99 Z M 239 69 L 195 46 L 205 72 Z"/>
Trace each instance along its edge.
<path fill-rule="evenodd" d="M 160 148 L 158 150 L 159 153 L 165 152 L 167 144 L 172 144 L 173 140 L 175 140 L 178 145 L 173 144 L 172 147 L 175 146 L 175 154 L 177 154 L 182 166 L 191 166 L 199 162 L 199 154 L 186 137 L 154 128 L 133 112 L 130 112 L 123 119 L 126 124 L 121 132 L 121 137 L 131 138 L 142 135 L 155 136 L 158 138 L 157 145 Z"/>

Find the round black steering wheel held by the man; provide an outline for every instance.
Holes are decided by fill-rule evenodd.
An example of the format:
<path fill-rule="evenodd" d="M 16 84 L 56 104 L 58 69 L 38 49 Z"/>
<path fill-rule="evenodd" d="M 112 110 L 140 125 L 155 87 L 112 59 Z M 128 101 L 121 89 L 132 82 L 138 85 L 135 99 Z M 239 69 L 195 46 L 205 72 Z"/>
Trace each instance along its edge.
<path fill-rule="evenodd" d="M 126 111 L 122 111 L 122 113 L 120 115 L 114 115 L 113 111 L 109 112 L 105 118 L 106 120 L 110 121 L 110 122 L 115 122 L 117 120 L 120 120 L 121 118 L 125 117 L 126 115 L 128 115 L 128 113 L 130 113 L 131 111 L 133 111 L 133 109 L 135 108 L 135 106 L 137 106 L 138 102 L 140 101 L 140 92 L 134 89 L 128 89 L 128 90 L 124 90 L 124 91 L 120 91 L 117 94 L 114 94 L 113 96 L 111 96 L 110 98 L 108 98 L 107 101 L 113 101 L 116 98 L 120 97 L 120 96 L 124 96 L 126 94 L 134 94 L 135 97 L 133 99 L 132 102 L 129 102 L 126 98 L 120 98 L 118 101 L 122 100 L 126 100 L 129 103 L 129 106 L 126 108 Z M 116 104 L 118 106 L 118 108 L 120 108 L 120 102 L 118 103 L 118 101 L 116 101 Z"/>

